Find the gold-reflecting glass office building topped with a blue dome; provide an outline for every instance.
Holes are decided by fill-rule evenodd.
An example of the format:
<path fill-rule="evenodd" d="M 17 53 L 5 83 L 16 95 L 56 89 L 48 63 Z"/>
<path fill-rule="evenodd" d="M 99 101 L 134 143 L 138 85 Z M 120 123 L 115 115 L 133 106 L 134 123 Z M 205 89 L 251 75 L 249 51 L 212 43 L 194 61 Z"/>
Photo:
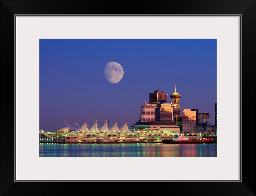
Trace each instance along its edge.
<path fill-rule="evenodd" d="M 167 104 L 166 100 L 162 100 L 156 107 L 156 121 L 173 121 L 173 107 Z"/>

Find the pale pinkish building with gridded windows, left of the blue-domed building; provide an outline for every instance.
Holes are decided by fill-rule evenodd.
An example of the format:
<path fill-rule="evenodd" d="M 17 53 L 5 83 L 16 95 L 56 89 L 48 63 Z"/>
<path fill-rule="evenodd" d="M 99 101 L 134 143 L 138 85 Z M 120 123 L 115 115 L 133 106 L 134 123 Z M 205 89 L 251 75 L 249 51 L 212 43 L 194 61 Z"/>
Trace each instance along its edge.
<path fill-rule="evenodd" d="M 149 122 L 156 119 L 156 104 L 141 104 L 141 114 L 138 122 Z"/>

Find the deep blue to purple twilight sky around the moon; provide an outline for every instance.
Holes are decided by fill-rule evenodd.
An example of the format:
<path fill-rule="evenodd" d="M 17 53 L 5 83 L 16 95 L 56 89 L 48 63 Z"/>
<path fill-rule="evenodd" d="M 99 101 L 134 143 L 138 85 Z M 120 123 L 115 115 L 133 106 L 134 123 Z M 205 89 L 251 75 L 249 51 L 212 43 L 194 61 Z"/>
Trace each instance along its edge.
<path fill-rule="evenodd" d="M 39 129 L 55 132 L 85 119 L 118 126 L 137 122 L 141 104 L 154 89 L 182 95 L 180 111 L 210 113 L 217 102 L 217 40 L 40 40 Z M 104 76 L 108 62 L 119 63 L 122 80 Z"/>

